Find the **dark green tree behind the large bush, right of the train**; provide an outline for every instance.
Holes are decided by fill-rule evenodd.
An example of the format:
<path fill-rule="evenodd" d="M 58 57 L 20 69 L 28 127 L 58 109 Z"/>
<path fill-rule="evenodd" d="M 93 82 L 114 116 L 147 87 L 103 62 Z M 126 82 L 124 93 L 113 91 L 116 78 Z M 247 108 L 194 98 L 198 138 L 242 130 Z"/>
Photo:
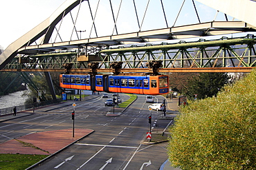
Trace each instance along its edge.
<path fill-rule="evenodd" d="M 200 73 L 190 80 L 185 95 L 194 98 L 194 94 L 197 94 L 199 99 L 216 96 L 229 83 L 229 78 L 226 73 Z"/>

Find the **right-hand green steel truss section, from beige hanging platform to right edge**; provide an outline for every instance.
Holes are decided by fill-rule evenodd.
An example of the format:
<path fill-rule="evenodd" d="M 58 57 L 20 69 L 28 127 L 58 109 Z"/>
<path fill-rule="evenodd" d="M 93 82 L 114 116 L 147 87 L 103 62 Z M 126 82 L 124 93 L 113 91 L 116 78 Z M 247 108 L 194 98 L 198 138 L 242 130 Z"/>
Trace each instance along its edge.
<path fill-rule="evenodd" d="M 136 62 L 138 64 L 132 68 L 145 67 L 148 61 L 163 61 L 163 68 L 255 67 L 255 43 L 254 37 L 193 43 L 182 41 L 176 44 L 101 50 L 100 55 L 109 59 L 102 61 L 104 65 L 122 61 L 124 68 L 131 68 Z M 132 62 L 129 60 L 131 56 L 135 59 Z"/>

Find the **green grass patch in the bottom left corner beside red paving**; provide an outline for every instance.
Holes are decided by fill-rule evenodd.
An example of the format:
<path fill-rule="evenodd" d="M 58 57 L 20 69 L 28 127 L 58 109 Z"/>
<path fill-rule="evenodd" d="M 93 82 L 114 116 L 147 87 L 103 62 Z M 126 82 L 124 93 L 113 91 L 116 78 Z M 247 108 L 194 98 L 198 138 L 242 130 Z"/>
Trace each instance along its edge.
<path fill-rule="evenodd" d="M 27 169 L 46 157 L 44 155 L 0 154 L 0 169 Z"/>

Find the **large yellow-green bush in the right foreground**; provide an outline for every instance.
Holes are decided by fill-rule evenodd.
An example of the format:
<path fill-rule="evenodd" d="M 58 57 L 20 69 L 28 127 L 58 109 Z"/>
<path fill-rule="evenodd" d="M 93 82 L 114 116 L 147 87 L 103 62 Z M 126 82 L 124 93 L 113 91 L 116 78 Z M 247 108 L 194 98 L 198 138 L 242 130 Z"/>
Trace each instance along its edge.
<path fill-rule="evenodd" d="M 170 162 L 181 169 L 255 169 L 256 70 L 217 97 L 181 109 L 170 129 Z"/>

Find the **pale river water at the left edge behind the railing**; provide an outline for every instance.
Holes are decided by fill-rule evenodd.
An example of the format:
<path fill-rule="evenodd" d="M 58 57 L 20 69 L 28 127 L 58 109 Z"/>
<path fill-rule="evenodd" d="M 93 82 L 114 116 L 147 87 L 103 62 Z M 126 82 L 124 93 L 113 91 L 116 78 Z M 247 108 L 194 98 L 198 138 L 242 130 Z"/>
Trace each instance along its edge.
<path fill-rule="evenodd" d="M 6 96 L 0 96 L 0 109 L 24 105 L 28 96 L 22 96 L 25 91 L 19 91 Z"/>

